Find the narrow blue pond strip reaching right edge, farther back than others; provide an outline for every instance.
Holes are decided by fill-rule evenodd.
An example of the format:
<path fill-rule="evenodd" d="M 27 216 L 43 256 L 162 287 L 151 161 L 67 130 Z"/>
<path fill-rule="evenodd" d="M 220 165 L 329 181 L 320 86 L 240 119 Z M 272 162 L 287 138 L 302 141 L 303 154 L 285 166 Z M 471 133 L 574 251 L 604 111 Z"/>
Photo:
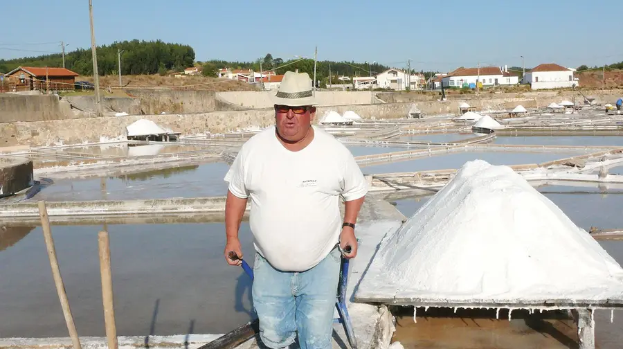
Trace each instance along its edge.
<path fill-rule="evenodd" d="M 622 136 L 496 136 L 492 143 L 508 145 L 611 145 L 623 147 Z"/>

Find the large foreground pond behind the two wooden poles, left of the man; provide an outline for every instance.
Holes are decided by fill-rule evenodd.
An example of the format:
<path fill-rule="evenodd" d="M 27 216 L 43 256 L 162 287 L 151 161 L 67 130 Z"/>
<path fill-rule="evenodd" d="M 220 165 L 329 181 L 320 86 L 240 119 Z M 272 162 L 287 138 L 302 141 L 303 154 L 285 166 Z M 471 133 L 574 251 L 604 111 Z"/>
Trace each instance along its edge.
<path fill-rule="evenodd" d="M 2 236 L 14 235 L 12 246 L 0 248 L 0 337 L 67 337 L 40 227 L 9 229 Z M 100 230 L 52 226 L 80 337 L 105 336 Z M 191 326 L 193 333 L 226 333 L 255 319 L 251 280 L 223 257 L 224 224 L 109 224 L 107 230 L 118 335 L 186 334 Z M 246 222 L 240 239 L 253 265 Z"/>

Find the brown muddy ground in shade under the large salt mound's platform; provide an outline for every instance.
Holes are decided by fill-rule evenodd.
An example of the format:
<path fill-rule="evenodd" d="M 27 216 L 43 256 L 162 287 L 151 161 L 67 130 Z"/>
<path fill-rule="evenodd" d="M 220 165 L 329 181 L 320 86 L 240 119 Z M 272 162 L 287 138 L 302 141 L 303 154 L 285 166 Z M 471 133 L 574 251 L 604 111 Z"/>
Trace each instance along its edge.
<path fill-rule="evenodd" d="M 578 348 L 577 326 L 564 312 L 530 314 L 514 310 L 508 321 L 508 311 L 457 310 L 446 308 L 402 308 L 396 315 L 393 341 L 406 349 L 519 349 L 519 348 Z"/>

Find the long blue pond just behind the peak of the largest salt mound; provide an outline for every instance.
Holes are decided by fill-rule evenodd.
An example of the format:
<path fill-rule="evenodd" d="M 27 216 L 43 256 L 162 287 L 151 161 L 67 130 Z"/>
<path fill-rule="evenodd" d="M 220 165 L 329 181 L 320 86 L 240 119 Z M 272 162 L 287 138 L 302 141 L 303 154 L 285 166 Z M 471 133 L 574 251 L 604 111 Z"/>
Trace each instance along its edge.
<path fill-rule="evenodd" d="M 382 165 L 360 165 L 366 174 L 388 172 L 414 172 L 424 170 L 445 170 L 460 168 L 467 161 L 482 159 L 492 165 L 519 165 L 527 163 L 543 163 L 569 156 L 580 152 L 453 152 L 435 154 L 407 161 L 383 163 Z"/>

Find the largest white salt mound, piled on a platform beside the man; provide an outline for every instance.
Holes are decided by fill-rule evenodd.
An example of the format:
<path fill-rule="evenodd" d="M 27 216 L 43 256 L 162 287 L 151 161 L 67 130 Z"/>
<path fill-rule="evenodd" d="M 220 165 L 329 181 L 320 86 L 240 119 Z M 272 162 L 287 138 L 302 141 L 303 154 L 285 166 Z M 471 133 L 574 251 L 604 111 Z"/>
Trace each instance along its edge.
<path fill-rule="evenodd" d="M 476 160 L 383 238 L 355 297 L 476 306 L 620 299 L 623 269 L 520 174 Z"/>

